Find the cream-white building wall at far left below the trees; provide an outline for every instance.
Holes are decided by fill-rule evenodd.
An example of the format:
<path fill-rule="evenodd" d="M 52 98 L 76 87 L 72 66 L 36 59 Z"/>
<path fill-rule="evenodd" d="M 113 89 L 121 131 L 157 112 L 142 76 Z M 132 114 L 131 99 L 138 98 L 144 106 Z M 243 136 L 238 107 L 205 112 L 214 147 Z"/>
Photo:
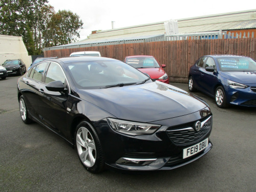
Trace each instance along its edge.
<path fill-rule="evenodd" d="M 0 35 L 0 64 L 7 59 L 22 59 L 27 69 L 31 65 L 32 58 L 28 55 L 22 37 Z"/>

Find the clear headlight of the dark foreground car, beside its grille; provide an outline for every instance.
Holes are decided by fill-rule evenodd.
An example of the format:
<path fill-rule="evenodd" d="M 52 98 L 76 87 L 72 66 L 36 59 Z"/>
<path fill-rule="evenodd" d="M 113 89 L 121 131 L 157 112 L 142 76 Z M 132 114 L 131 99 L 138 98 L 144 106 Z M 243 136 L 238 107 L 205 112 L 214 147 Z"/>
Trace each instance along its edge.
<path fill-rule="evenodd" d="M 150 135 L 157 131 L 161 126 L 112 118 L 108 118 L 108 122 L 113 130 L 127 135 Z"/>

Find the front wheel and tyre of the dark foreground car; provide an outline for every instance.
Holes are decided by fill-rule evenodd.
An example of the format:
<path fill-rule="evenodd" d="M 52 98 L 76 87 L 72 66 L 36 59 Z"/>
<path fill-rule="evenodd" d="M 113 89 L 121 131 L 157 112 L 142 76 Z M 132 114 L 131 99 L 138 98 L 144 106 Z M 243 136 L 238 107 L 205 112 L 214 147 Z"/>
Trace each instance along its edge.
<path fill-rule="evenodd" d="M 104 158 L 99 137 L 87 121 L 76 127 L 75 144 L 82 165 L 91 173 L 99 173 L 104 169 Z"/>

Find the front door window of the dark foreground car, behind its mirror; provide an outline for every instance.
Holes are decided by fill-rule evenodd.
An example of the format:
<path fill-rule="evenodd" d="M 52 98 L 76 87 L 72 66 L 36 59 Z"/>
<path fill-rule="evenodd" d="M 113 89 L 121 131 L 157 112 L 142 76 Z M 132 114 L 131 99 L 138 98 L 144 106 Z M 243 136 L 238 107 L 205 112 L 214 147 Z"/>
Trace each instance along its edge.
<path fill-rule="evenodd" d="M 63 73 L 61 67 L 55 62 L 51 62 L 46 74 L 46 83 L 52 81 L 61 81 L 62 83 L 65 83 L 65 79 L 65 74 Z"/>

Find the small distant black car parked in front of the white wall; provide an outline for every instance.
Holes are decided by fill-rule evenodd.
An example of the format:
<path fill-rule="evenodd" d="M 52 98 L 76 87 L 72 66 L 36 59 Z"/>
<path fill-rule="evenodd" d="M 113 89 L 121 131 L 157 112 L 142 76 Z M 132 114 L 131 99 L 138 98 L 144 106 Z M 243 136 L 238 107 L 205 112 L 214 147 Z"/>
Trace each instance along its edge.
<path fill-rule="evenodd" d="M 22 75 L 27 71 L 26 65 L 22 59 L 8 59 L 3 63 L 2 66 L 6 68 L 7 75 Z"/>

